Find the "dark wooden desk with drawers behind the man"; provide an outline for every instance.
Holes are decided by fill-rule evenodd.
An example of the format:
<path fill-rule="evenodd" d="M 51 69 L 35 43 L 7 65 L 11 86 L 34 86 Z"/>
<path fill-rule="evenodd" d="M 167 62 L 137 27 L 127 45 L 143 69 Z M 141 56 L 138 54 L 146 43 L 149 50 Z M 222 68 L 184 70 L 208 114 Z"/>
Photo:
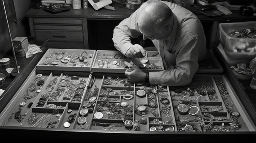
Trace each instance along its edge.
<path fill-rule="evenodd" d="M 25 16 L 29 18 L 29 26 L 31 36 L 35 37 L 37 44 L 41 45 L 45 39 L 40 39 L 41 35 L 38 32 L 42 31 L 56 31 L 55 28 L 44 28 L 40 29 L 38 25 L 51 25 L 51 26 L 72 26 L 71 23 L 63 23 L 62 20 L 81 20 L 81 23 L 73 23 L 76 26 L 80 26 L 83 36 L 83 41 L 72 44 L 73 41 L 65 41 L 60 39 L 50 39 L 48 47 L 53 48 L 75 48 L 75 49 L 108 49 L 109 44 L 112 44 L 113 29 L 117 26 L 121 20 L 129 17 L 134 10 L 120 8 L 118 3 L 113 3 L 111 6 L 115 7 L 116 11 L 99 9 L 94 10 L 89 5 L 88 9 L 71 9 L 70 11 L 64 11 L 61 13 L 52 14 L 43 9 L 30 9 Z M 207 47 L 212 49 L 211 42 L 218 41 L 218 23 L 226 22 L 239 22 L 239 21 L 254 21 L 255 16 L 242 16 L 239 11 L 232 11 L 233 14 L 225 15 L 221 17 L 207 17 L 203 14 L 196 14 L 201 20 L 205 34 L 207 37 Z M 37 20 L 48 20 L 48 22 L 37 22 Z M 61 20 L 61 21 L 58 21 Z M 52 21 L 52 22 L 49 22 Z M 55 21 L 55 22 L 54 22 Z M 56 22 L 58 21 L 58 22 Z M 70 34 L 70 31 L 65 29 L 59 29 L 61 34 Z M 63 33 L 67 31 L 67 33 Z M 77 30 L 76 30 L 77 31 Z M 57 32 L 58 33 L 58 32 Z M 51 33 L 52 34 L 52 33 Z M 46 38 L 46 37 L 44 37 Z M 38 40 L 39 39 L 39 40 Z M 63 38 L 65 39 L 65 38 Z M 67 39 L 67 38 L 66 38 Z M 148 41 L 151 42 L 151 41 Z M 52 44 L 54 44 L 54 46 Z M 67 43 L 69 44 L 67 46 Z M 56 44 L 58 46 L 56 46 Z M 78 44 L 79 48 L 78 48 Z"/>

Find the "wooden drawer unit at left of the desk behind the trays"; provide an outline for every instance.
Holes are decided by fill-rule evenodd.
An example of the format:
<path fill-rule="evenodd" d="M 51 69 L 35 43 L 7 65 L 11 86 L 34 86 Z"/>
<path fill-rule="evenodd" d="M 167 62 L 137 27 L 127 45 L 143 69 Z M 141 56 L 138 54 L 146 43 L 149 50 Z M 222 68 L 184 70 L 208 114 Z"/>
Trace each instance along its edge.
<path fill-rule="evenodd" d="M 49 48 L 88 49 L 86 19 L 29 18 L 37 45 L 48 39 Z"/>

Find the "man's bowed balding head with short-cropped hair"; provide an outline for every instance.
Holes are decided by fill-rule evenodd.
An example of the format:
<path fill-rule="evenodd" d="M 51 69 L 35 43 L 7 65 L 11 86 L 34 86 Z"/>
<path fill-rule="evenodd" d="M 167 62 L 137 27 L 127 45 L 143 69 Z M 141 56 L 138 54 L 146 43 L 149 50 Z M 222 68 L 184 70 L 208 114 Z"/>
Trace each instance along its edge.
<path fill-rule="evenodd" d="M 165 3 L 158 0 L 148 0 L 141 6 L 138 23 L 140 26 L 153 26 L 159 31 L 170 23 L 172 10 Z"/>

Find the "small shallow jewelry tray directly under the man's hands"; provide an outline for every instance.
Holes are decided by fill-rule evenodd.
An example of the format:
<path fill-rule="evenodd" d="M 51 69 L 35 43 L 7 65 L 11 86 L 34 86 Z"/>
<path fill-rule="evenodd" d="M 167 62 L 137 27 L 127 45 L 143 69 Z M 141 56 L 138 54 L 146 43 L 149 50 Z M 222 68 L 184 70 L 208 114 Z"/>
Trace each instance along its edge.
<path fill-rule="evenodd" d="M 164 70 L 163 60 L 157 51 L 147 51 L 145 57 L 137 59 L 125 57 L 120 51 L 97 50 L 92 72 L 125 73 L 129 64 L 145 72 Z"/>

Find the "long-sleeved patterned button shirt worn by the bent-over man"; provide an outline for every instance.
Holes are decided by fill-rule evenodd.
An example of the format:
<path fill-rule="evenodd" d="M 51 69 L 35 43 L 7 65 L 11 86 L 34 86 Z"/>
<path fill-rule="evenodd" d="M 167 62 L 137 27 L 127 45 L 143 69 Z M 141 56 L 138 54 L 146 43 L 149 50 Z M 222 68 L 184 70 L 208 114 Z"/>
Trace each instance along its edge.
<path fill-rule="evenodd" d="M 165 40 L 152 42 L 168 69 L 149 72 L 149 82 L 161 86 L 187 85 L 198 70 L 198 61 L 203 60 L 207 53 L 204 28 L 191 11 L 174 3 L 163 3 L 172 9 L 174 15 L 172 33 Z M 113 30 L 114 46 L 124 55 L 132 46 L 130 38 L 142 35 L 138 28 L 140 11 L 141 8 L 137 9 Z"/>

